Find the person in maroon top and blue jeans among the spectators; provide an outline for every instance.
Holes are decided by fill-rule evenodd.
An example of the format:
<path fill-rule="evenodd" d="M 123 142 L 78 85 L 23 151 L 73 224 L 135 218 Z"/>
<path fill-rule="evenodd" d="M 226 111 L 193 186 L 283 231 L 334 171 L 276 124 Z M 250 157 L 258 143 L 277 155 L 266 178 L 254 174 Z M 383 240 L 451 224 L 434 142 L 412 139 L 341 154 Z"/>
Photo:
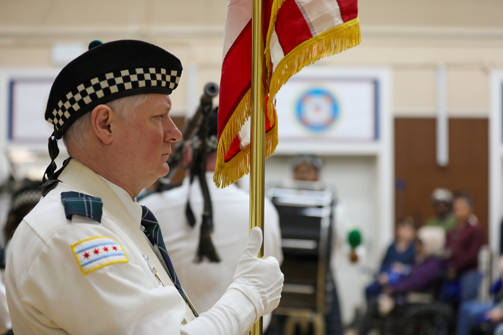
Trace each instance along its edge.
<path fill-rule="evenodd" d="M 447 256 L 449 265 L 447 276 L 451 290 L 444 289 L 443 300 L 453 303 L 475 299 L 477 297 L 480 275 L 478 253 L 484 244 L 484 234 L 473 214 L 473 199 L 466 192 L 454 196 L 454 215 L 456 227 L 447 234 Z M 459 286 L 459 290 L 452 287 Z M 450 292 L 448 292 L 450 291 Z"/>

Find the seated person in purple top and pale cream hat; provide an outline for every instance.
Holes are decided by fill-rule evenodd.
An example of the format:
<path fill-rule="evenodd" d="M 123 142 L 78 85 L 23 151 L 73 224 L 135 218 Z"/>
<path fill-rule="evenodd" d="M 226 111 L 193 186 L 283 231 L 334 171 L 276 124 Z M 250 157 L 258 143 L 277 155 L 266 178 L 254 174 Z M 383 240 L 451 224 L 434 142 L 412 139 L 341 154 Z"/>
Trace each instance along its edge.
<path fill-rule="evenodd" d="M 372 321 L 378 315 L 385 316 L 393 309 L 395 303 L 404 303 L 405 293 L 432 292 L 436 288 L 437 281 L 445 274 L 444 230 L 440 227 L 422 227 L 417 231 L 417 236 L 415 264 L 408 274 L 402 273 L 397 276 L 398 278 L 383 276 L 384 293 L 368 305 L 359 335 L 365 335 L 371 330 Z"/>

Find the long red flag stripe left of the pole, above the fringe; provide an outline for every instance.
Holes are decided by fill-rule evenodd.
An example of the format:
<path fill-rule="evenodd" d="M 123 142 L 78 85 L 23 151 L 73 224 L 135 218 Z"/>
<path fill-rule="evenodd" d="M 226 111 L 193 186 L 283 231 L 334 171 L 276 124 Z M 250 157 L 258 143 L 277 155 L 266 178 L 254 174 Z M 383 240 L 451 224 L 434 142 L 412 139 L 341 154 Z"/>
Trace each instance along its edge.
<path fill-rule="evenodd" d="M 220 77 L 218 102 L 218 137 L 251 85 L 251 20 L 246 24 L 225 55 Z M 250 64 L 250 67 L 243 66 Z"/>

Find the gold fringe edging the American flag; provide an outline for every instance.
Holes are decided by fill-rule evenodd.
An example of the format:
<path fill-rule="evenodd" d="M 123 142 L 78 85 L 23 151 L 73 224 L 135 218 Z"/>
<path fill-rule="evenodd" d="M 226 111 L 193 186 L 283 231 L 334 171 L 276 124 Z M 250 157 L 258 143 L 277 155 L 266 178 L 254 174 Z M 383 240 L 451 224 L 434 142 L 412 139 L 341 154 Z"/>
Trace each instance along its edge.
<path fill-rule="evenodd" d="M 274 29 L 274 23 L 276 22 L 277 13 L 283 3 L 284 0 L 278 0 L 273 3 L 271 23 L 266 36 L 266 81 L 269 88 L 267 117 L 269 119 L 269 123 L 274 125 L 274 127 L 266 134 L 266 158 L 274 153 L 274 150 L 278 145 L 278 117 L 274 105 L 275 95 L 278 93 L 281 86 L 283 86 L 291 76 L 299 72 L 303 67 L 310 65 L 323 57 L 338 54 L 344 50 L 355 47 L 360 44 L 362 40 L 360 20 L 357 17 L 337 27 L 326 30 L 299 44 L 290 53 L 283 57 L 271 76 L 270 73 L 272 64 L 269 52 L 270 39 L 272 29 Z M 249 173 L 249 146 L 242 148 L 241 151 L 228 162 L 225 162 L 225 155 L 236 135 L 241 130 L 241 127 L 250 117 L 250 95 L 251 90 L 249 89 L 232 113 L 232 116 L 228 120 L 222 134 L 220 135 L 217 148 L 217 163 L 215 167 L 215 174 L 213 176 L 213 181 L 218 187 L 228 186 L 236 182 L 243 175 Z"/>

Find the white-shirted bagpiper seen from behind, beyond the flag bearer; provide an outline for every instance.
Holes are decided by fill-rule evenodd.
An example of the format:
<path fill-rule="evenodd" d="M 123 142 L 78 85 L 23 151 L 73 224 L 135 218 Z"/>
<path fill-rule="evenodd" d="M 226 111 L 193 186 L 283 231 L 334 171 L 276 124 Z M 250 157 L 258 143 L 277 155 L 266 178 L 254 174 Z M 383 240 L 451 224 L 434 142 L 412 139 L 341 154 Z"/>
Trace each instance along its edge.
<path fill-rule="evenodd" d="M 209 310 L 232 283 L 241 251 L 248 240 L 249 193 L 235 184 L 217 188 L 213 183 L 217 149 L 217 109 L 208 116 L 207 134 L 203 126 L 185 151 L 185 162 L 190 167 L 180 187 L 157 191 L 139 200 L 155 213 L 164 232 L 164 242 L 175 264 L 177 274 L 183 278 L 184 289 L 198 311 Z M 206 137 L 206 150 L 201 152 Z M 200 157 L 206 154 L 204 171 L 200 171 Z M 197 255 L 204 210 L 204 196 L 198 175 L 205 173 L 211 201 L 213 233 L 211 241 L 217 259 Z M 192 182 L 191 182 L 192 179 Z M 187 215 L 186 210 L 192 215 Z M 195 221 L 191 222 L 194 217 Z M 264 203 L 264 256 L 274 256 L 281 263 L 281 232 L 276 208 L 269 199 Z M 204 233 L 201 233 L 204 235 Z M 207 256 L 207 255 L 203 255 Z M 205 280 L 201 280 L 204 278 Z M 264 320 L 266 324 L 266 320 Z"/>

